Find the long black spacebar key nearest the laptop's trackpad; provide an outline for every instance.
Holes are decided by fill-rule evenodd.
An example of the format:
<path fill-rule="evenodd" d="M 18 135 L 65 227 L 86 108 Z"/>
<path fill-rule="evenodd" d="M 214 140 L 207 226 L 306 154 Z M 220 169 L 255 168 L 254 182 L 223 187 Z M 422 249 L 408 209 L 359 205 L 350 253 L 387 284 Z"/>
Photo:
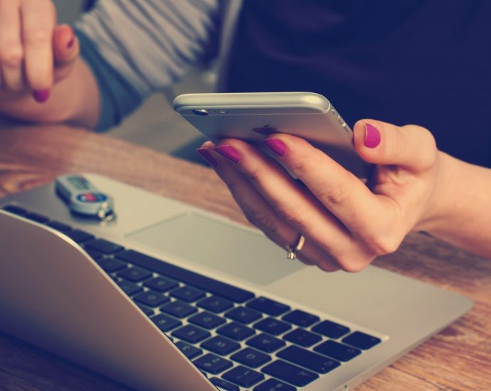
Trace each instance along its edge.
<path fill-rule="evenodd" d="M 139 267 L 152 270 L 152 272 L 157 272 L 159 274 L 163 274 L 164 276 L 177 279 L 181 282 L 185 282 L 186 284 L 204 289 L 212 294 L 226 297 L 227 299 L 233 300 L 236 303 L 243 303 L 244 301 L 254 297 L 254 294 L 250 291 L 245 291 L 244 289 L 237 288 L 236 286 L 219 282 L 216 279 L 202 276 L 201 274 L 191 272 L 183 269 L 182 267 L 175 266 L 174 264 L 164 262 L 161 259 L 149 257 L 141 252 L 126 250 L 118 252 L 115 256 L 132 264 L 136 264 Z"/>

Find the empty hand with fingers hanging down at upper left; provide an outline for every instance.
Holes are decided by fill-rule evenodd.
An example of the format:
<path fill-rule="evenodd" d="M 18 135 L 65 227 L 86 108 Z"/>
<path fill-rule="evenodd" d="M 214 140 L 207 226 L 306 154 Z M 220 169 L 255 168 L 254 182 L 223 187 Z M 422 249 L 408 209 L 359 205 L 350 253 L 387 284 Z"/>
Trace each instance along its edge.
<path fill-rule="evenodd" d="M 0 0 L 0 109 L 27 95 L 46 102 L 78 53 L 73 28 L 56 26 L 50 0 Z"/>

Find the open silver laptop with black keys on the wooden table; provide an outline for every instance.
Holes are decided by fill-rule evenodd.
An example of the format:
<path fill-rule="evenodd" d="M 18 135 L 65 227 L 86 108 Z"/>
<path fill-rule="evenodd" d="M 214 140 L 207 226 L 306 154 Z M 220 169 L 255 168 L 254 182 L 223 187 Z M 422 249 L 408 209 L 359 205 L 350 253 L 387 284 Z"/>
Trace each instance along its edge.
<path fill-rule="evenodd" d="M 258 230 L 84 174 L 117 218 L 53 184 L 0 199 L 0 328 L 139 390 L 352 390 L 465 314 L 370 266 L 325 273 Z"/>

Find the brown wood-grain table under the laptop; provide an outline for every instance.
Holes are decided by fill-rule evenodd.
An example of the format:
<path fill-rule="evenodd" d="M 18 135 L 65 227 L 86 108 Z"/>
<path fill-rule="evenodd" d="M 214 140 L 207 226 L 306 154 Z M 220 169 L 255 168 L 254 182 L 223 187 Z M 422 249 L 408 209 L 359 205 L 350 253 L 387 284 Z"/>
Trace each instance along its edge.
<path fill-rule="evenodd" d="M 0 125 L 0 196 L 43 185 L 63 173 L 82 171 L 100 173 L 245 223 L 211 169 L 84 129 Z M 375 263 L 464 294 L 475 306 L 358 390 L 491 390 L 491 262 L 414 234 L 396 254 Z M 126 388 L 0 333 L 0 389 Z"/>

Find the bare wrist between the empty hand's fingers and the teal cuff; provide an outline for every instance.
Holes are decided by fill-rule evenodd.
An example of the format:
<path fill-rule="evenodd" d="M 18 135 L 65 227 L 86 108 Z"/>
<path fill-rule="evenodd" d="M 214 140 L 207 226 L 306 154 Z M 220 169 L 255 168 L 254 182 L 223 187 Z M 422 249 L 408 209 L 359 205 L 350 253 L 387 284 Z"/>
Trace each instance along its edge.
<path fill-rule="evenodd" d="M 94 128 L 100 112 L 97 82 L 79 58 L 70 75 L 53 86 L 47 102 L 40 104 L 31 94 L 23 93 L 1 102 L 0 112 L 28 122 L 63 122 Z"/>

